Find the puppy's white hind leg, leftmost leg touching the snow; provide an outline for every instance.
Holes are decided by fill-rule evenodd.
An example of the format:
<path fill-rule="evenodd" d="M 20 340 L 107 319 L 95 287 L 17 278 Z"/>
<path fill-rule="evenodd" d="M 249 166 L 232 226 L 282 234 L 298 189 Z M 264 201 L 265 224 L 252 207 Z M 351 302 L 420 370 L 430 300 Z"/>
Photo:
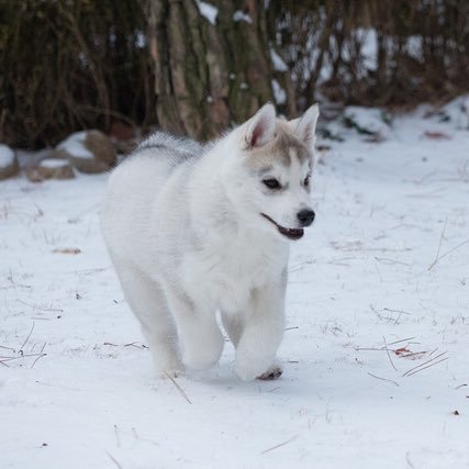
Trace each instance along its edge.
<path fill-rule="evenodd" d="M 165 378 L 182 372 L 178 335 L 161 287 L 132 263 L 115 260 L 124 297 L 142 325 L 153 356 L 155 375 Z"/>

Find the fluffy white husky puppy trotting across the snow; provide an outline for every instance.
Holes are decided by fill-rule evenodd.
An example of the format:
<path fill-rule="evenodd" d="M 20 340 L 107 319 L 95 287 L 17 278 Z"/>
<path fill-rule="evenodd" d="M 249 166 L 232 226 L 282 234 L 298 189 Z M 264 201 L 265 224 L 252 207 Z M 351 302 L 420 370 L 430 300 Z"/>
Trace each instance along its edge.
<path fill-rule="evenodd" d="M 157 132 L 111 175 L 101 226 L 158 376 L 213 367 L 224 339 L 242 380 L 275 379 L 289 242 L 312 224 L 317 104 L 271 104 L 206 146 Z"/>

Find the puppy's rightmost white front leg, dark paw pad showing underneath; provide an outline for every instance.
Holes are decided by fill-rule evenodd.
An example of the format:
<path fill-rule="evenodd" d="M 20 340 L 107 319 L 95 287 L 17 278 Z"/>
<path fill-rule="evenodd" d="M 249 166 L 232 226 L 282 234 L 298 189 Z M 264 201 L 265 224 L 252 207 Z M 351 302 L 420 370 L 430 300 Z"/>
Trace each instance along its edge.
<path fill-rule="evenodd" d="M 284 331 L 284 282 L 253 291 L 252 311 L 236 348 L 236 375 L 244 381 L 281 375 L 275 362 Z"/>

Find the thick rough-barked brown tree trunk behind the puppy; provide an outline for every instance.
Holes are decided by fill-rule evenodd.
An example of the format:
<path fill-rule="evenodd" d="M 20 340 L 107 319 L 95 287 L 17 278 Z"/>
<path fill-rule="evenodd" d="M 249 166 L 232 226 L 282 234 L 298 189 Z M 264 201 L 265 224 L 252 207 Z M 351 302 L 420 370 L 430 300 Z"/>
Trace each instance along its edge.
<path fill-rule="evenodd" d="M 215 24 L 202 14 L 205 2 L 148 0 L 158 124 L 198 139 L 245 121 L 272 100 L 264 1 L 210 5 Z"/>

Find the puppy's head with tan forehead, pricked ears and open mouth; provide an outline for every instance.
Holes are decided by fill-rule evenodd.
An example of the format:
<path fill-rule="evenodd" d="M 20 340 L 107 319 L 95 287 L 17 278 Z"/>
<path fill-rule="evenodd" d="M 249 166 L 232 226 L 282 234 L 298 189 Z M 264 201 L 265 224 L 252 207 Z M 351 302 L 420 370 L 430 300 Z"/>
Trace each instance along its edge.
<path fill-rule="evenodd" d="M 314 220 L 310 205 L 317 104 L 281 121 L 264 105 L 236 132 L 237 155 L 224 182 L 239 213 L 282 239 L 299 239 Z"/>

